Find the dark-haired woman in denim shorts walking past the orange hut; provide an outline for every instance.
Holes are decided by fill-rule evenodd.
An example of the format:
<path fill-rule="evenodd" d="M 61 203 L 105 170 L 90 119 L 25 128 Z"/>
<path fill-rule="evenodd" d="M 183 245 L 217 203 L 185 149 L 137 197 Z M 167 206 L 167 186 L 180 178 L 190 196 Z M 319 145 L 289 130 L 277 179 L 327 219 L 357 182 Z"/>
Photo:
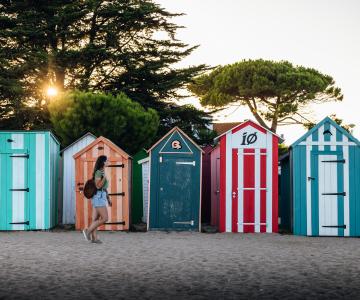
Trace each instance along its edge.
<path fill-rule="evenodd" d="M 109 203 L 109 206 L 112 205 L 107 193 L 109 182 L 105 176 L 106 161 L 107 157 L 105 155 L 99 156 L 96 160 L 93 178 L 97 192 L 91 199 L 93 207 L 92 223 L 88 228 L 83 230 L 84 237 L 87 241 L 98 244 L 101 243 L 101 241 L 97 238 L 97 228 L 108 220 L 106 204 Z"/>

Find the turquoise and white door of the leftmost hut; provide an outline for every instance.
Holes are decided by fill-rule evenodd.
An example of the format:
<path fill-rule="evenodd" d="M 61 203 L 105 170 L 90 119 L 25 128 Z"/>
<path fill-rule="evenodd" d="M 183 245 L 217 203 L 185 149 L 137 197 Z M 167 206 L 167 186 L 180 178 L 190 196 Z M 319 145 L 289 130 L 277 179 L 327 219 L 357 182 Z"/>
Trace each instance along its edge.
<path fill-rule="evenodd" d="M 2 162 L 6 172 L 6 225 L 9 230 L 25 230 L 29 226 L 28 160 L 26 153 L 5 155 Z"/>

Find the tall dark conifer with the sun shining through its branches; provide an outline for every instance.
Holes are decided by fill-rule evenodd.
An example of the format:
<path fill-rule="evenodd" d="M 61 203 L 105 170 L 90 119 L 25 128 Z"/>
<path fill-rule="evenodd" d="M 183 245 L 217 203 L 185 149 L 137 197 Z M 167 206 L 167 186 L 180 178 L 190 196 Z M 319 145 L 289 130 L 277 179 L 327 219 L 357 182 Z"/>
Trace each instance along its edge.
<path fill-rule="evenodd" d="M 166 130 L 186 110 L 166 101 L 181 98 L 179 90 L 205 70 L 173 67 L 196 48 L 176 39 L 180 26 L 171 20 L 179 15 L 151 0 L 1 1 L 2 126 L 48 127 L 44 90 L 53 85 L 124 92 L 157 110 Z"/>

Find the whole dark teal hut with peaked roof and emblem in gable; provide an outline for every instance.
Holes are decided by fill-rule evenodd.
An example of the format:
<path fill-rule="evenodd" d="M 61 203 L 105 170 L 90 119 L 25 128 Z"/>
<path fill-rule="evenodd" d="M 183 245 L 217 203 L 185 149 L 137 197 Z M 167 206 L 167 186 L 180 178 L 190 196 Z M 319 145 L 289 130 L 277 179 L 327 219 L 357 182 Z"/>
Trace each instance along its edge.
<path fill-rule="evenodd" d="M 203 151 L 174 127 L 149 150 L 148 229 L 200 230 Z"/>

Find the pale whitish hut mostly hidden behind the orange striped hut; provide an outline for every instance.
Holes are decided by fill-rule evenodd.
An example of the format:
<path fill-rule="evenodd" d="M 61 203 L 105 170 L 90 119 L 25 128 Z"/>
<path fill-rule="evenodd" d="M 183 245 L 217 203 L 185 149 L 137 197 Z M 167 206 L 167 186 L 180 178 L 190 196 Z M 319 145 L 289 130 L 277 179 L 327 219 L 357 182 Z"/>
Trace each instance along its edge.
<path fill-rule="evenodd" d="M 62 199 L 60 199 L 60 207 L 62 210 L 63 224 L 75 224 L 76 188 L 75 160 L 73 155 L 84 149 L 87 145 L 91 144 L 95 140 L 96 136 L 88 132 L 61 151 L 62 158 L 60 167 L 62 169 Z"/>

